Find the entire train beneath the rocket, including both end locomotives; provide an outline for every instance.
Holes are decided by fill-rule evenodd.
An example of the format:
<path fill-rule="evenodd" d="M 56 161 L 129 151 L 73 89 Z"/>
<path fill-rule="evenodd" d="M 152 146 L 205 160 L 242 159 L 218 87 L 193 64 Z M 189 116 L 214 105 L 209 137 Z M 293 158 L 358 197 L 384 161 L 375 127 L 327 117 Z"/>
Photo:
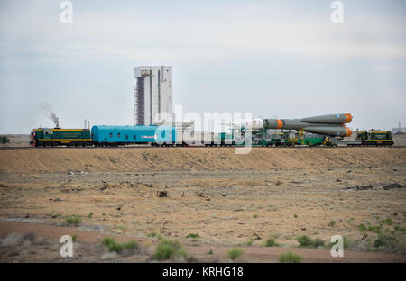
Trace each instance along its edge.
<path fill-rule="evenodd" d="M 309 147 L 335 147 L 339 143 L 347 146 L 382 146 L 393 145 L 391 131 L 358 131 L 354 141 L 337 141 L 331 136 L 305 131 L 282 131 L 257 129 L 251 131 L 251 146 L 254 147 L 292 147 L 306 145 Z M 173 126 L 135 125 L 109 126 L 96 125 L 89 129 L 61 129 L 60 127 L 33 129 L 30 144 L 33 147 L 117 147 L 129 144 L 147 144 L 152 147 L 173 147 L 205 145 L 244 146 L 245 130 L 230 133 L 211 133 L 209 137 L 194 140 L 178 139 L 178 132 Z M 198 139 L 198 140 L 196 140 Z"/>

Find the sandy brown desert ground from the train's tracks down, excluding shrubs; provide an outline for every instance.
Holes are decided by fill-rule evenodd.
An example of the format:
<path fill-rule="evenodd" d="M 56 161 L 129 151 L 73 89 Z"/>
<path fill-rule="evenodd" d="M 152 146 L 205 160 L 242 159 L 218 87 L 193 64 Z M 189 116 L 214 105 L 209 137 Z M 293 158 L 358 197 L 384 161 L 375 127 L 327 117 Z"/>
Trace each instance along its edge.
<path fill-rule="evenodd" d="M 235 261 L 291 250 L 302 262 L 405 262 L 405 186 L 406 148 L 0 150 L 0 261 L 154 262 L 172 239 L 188 253 L 175 261 L 228 262 L 239 247 Z M 65 234 L 73 258 L 60 257 Z M 301 235 L 341 235 L 345 255 L 300 247 Z M 109 252 L 105 237 L 139 247 Z"/>

